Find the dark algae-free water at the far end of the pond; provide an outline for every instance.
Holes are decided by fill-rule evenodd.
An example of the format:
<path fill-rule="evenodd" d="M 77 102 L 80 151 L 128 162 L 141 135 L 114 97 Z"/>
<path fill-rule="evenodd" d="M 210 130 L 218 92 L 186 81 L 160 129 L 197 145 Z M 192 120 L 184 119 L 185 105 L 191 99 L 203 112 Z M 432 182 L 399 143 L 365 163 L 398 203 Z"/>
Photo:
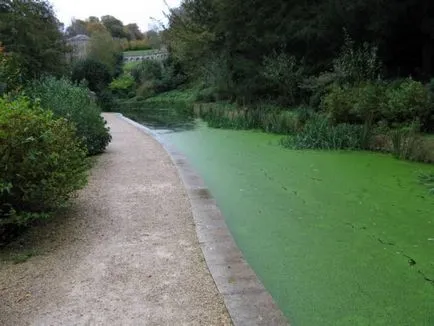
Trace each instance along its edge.
<path fill-rule="evenodd" d="M 120 113 L 155 130 L 159 134 L 191 130 L 195 118 L 189 109 L 180 108 L 123 108 Z"/>

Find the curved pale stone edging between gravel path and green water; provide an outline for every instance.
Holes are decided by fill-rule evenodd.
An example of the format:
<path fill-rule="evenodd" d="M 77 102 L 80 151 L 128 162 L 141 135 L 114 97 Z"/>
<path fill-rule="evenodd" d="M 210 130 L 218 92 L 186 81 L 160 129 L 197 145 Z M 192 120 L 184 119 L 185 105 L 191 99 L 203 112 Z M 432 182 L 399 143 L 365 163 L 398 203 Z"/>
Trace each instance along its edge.
<path fill-rule="evenodd" d="M 199 244 L 235 326 L 288 325 L 271 295 L 243 258 L 203 179 L 186 157 L 151 129 L 119 117 L 152 136 L 171 157 L 190 198 Z"/>

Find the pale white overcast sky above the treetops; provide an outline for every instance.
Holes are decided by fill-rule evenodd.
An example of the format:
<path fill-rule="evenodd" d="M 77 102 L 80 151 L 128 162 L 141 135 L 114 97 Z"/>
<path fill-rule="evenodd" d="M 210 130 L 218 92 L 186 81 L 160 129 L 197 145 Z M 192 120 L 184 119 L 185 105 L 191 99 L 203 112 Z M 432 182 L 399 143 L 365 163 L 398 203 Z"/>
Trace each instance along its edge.
<path fill-rule="evenodd" d="M 85 19 L 89 16 L 111 15 L 124 25 L 136 23 L 142 31 L 150 29 L 152 18 L 165 21 L 163 12 L 168 11 L 164 0 L 49 0 L 57 18 L 71 24 L 72 18 Z M 170 7 L 177 7 L 181 0 L 166 0 Z"/>

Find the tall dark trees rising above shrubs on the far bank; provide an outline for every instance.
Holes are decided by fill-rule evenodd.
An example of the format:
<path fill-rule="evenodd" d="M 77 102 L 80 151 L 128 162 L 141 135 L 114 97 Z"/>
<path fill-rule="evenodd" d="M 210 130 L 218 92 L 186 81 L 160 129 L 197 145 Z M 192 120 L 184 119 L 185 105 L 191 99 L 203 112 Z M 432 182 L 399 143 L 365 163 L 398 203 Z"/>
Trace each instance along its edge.
<path fill-rule="evenodd" d="M 269 94 L 258 69 L 265 56 L 283 53 L 317 75 L 332 69 L 345 34 L 376 46 L 386 77 L 434 73 L 429 0 L 190 0 L 171 11 L 165 38 L 192 76 L 219 66 L 233 96 L 255 100 Z"/>

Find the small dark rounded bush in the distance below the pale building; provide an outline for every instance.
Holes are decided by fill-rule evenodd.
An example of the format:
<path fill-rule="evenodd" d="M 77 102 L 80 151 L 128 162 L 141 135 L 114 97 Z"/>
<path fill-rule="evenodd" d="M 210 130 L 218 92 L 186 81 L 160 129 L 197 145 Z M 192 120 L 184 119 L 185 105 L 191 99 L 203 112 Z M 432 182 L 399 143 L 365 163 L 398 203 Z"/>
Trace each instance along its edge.
<path fill-rule="evenodd" d="M 112 80 L 109 68 L 102 62 L 85 59 L 77 61 L 72 67 L 72 81 L 86 80 L 91 91 L 99 94 Z"/>

